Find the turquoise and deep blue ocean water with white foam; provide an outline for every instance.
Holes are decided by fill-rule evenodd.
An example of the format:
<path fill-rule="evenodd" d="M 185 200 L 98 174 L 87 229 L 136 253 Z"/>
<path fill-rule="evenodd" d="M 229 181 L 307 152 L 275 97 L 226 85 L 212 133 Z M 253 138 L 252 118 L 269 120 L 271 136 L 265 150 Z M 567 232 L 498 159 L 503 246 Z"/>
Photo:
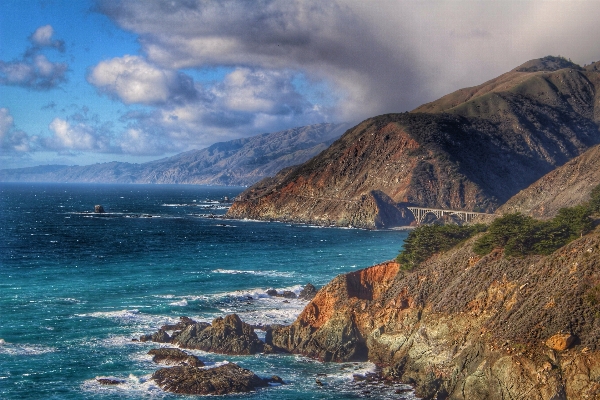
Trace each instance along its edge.
<path fill-rule="evenodd" d="M 224 214 L 219 201 L 241 190 L 1 184 L 0 398 L 181 398 L 149 380 L 159 367 L 146 353 L 156 344 L 132 338 L 181 315 L 210 322 L 235 312 L 248 323 L 291 323 L 306 302 L 284 303 L 268 289 L 320 287 L 392 259 L 406 237 L 207 217 Z M 96 204 L 106 213 L 91 213 Z M 373 370 L 370 363 L 193 353 L 209 366 L 237 362 L 289 383 L 228 398 L 403 398 L 397 387 L 367 393 L 352 382 Z M 125 383 L 101 386 L 97 377 Z"/>

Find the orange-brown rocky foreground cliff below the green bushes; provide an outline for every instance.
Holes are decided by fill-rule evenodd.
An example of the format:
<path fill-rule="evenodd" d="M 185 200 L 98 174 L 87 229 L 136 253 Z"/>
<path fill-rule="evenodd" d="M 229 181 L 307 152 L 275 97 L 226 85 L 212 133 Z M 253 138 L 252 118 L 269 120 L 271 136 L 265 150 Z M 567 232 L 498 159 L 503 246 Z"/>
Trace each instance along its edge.
<path fill-rule="evenodd" d="M 600 231 L 523 258 L 479 257 L 474 240 L 412 272 L 340 275 L 268 340 L 371 360 L 426 399 L 600 398 Z"/>

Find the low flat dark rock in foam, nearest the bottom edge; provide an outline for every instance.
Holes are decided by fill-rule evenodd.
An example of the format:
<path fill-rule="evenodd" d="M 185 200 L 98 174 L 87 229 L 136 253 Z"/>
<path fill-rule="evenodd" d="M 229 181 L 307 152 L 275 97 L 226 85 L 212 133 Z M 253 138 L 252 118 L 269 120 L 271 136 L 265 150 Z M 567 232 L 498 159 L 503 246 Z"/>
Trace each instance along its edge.
<path fill-rule="evenodd" d="M 162 368 L 152 375 L 152 379 L 164 391 L 179 394 L 223 395 L 251 392 L 268 386 L 266 380 L 234 363 L 211 369 L 190 366 Z"/>

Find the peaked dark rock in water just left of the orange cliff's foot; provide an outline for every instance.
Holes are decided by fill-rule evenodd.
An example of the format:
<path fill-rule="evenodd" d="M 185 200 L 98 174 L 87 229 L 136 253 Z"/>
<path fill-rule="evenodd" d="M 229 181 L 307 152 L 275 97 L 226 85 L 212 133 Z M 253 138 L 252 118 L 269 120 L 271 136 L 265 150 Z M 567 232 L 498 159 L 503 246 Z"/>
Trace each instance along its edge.
<path fill-rule="evenodd" d="M 254 328 L 236 314 L 216 318 L 210 326 L 190 325 L 175 337 L 173 343 L 188 349 L 221 354 L 256 354 L 264 349 L 264 343 L 254 333 Z"/>

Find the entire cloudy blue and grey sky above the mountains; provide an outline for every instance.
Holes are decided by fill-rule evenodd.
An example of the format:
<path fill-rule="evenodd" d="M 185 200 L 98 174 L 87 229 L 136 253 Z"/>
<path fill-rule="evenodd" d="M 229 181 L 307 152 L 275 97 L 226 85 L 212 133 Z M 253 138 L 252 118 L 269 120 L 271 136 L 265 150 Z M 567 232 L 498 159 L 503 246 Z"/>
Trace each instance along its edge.
<path fill-rule="evenodd" d="M 0 168 L 145 162 L 410 111 L 547 55 L 600 1 L 3 0 Z"/>

